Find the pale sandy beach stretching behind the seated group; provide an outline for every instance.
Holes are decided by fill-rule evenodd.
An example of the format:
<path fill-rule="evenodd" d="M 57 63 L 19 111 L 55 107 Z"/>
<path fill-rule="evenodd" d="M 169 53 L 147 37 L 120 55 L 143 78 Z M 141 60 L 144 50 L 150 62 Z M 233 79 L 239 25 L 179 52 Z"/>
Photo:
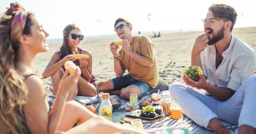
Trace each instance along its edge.
<path fill-rule="evenodd" d="M 86 29 L 84 29 L 84 32 L 85 31 Z M 173 82 L 179 82 L 181 80 L 180 74 L 183 72 L 184 68 L 190 66 L 192 47 L 196 37 L 202 33 L 204 32 L 163 33 L 159 38 L 151 38 L 152 35 L 147 35 L 154 43 L 158 72 L 161 78 L 169 85 Z M 256 27 L 235 28 L 233 35 L 249 44 L 256 51 Z M 79 46 L 92 52 L 92 70 L 97 81 L 115 76 L 113 55 L 109 50 L 109 44 L 119 40 L 120 39 L 116 36 L 112 38 L 81 41 Z M 33 71 L 36 72 L 44 82 L 45 99 L 47 100 L 48 95 L 52 94 L 49 90 L 49 87 L 52 85 L 51 77 L 43 79 L 42 72 L 50 61 L 53 53 L 57 51 L 62 42 L 58 41 L 48 44 L 50 50 L 45 53 L 39 53 L 33 65 Z M 176 62 L 174 67 L 167 66 L 170 61 Z M 164 70 L 166 70 L 166 72 L 163 73 Z M 254 71 L 254 75 L 256 75 L 256 70 Z"/>

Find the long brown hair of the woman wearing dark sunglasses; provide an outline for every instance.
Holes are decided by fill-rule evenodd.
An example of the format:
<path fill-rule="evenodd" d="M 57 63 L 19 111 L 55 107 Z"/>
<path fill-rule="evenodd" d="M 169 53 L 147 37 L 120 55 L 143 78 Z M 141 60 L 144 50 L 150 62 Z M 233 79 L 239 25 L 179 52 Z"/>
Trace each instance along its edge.
<path fill-rule="evenodd" d="M 80 30 L 80 28 L 78 28 L 75 24 L 68 24 L 68 26 L 66 26 L 63 30 L 63 43 L 61 45 L 60 49 L 60 59 L 63 59 L 65 56 L 70 55 L 70 54 L 78 54 L 78 50 L 73 47 L 69 41 L 68 41 L 68 33 L 70 33 L 70 31 L 72 30 Z M 75 49 L 75 51 L 72 50 L 72 48 Z"/>

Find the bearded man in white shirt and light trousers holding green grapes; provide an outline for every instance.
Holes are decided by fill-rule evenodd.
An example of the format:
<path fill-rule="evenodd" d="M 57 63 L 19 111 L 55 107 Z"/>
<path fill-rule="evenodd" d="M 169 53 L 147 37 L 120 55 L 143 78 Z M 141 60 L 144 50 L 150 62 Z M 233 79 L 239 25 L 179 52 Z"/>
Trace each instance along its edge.
<path fill-rule="evenodd" d="M 195 82 L 183 76 L 185 84 L 173 83 L 170 94 L 188 118 L 218 134 L 231 133 L 220 120 L 238 125 L 238 134 L 254 134 L 256 129 L 255 51 L 232 34 L 235 9 L 212 4 L 204 19 L 205 33 L 196 38 L 191 66 L 204 74 Z M 198 93 L 192 87 L 204 89 Z"/>

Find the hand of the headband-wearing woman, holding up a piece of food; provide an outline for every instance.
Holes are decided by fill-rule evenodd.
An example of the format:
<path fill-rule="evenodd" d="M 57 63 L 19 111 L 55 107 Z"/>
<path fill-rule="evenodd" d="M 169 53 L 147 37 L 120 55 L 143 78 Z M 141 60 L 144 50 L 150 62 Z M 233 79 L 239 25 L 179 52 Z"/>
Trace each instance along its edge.
<path fill-rule="evenodd" d="M 75 72 L 70 75 L 68 74 L 69 72 L 68 70 L 66 70 L 62 78 L 60 79 L 60 84 L 58 87 L 58 91 L 60 91 L 59 93 L 68 93 L 72 89 L 72 87 L 77 84 L 77 81 L 81 76 L 81 69 L 78 66 L 76 66 Z"/>

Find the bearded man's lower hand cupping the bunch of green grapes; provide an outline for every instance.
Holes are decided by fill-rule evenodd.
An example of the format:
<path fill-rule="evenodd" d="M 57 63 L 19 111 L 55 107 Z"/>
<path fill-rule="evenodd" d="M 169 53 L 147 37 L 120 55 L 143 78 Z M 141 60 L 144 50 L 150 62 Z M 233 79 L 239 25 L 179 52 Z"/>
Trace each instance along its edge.
<path fill-rule="evenodd" d="M 197 73 L 198 76 L 200 77 L 200 79 L 198 81 L 194 81 L 192 80 L 191 78 L 189 78 L 189 76 L 186 74 L 186 75 L 183 75 L 183 80 L 184 82 L 189 85 L 189 86 L 193 86 L 193 87 L 196 87 L 196 88 L 203 88 L 205 89 L 207 86 L 208 86 L 208 82 L 206 81 L 205 77 L 204 77 L 204 74 L 202 73 Z"/>

